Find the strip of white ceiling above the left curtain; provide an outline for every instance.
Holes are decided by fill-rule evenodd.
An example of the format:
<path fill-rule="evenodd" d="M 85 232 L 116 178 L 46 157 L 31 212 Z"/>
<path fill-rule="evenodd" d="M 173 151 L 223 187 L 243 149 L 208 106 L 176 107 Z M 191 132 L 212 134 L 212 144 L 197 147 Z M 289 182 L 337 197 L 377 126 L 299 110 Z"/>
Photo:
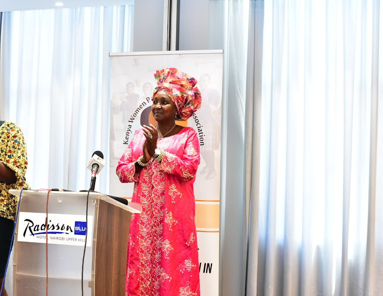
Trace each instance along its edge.
<path fill-rule="evenodd" d="M 141 0 L 142 1 L 142 0 Z M 57 7 L 55 2 L 64 6 Z M 97 7 L 134 4 L 134 0 L 0 0 L 0 12 L 14 10 L 62 9 L 69 7 Z"/>

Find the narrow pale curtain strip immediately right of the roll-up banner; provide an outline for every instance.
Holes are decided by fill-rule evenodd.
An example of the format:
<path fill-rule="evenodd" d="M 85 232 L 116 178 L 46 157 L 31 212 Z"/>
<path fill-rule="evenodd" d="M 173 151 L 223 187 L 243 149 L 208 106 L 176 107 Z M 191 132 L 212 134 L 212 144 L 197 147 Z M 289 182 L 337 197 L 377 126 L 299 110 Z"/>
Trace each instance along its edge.
<path fill-rule="evenodd" d="M 246 282 L 244 129 L 248 1 L 209 2 L 209 48 L 224 50 L 221 157 L 220 294 L 243 295 Z"/>

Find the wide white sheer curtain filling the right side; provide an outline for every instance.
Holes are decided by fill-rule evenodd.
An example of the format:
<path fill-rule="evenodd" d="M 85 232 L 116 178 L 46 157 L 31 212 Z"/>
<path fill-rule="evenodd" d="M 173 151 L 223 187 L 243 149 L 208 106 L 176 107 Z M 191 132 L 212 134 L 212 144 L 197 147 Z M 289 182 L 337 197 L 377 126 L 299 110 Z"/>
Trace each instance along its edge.
<path fill-rule="evenodd" d="M 249 8 L 246 294 L 381 295 L 379 1 Z"/>

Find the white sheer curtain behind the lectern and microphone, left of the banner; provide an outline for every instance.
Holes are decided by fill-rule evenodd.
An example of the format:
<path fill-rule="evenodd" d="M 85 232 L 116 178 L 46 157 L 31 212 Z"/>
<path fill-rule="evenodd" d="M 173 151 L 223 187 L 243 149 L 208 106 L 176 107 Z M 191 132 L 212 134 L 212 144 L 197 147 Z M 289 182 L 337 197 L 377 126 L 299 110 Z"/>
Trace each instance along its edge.
<path fill-rule="evenodd" d="M 25 135 L 32 188 L 89 187 L 86 163 L 108 159 L 109 52 L 132 49 L 133 6 L 3 13 L 1 118 Z M 96 190 L 108 192 L 108 167 Z"/>

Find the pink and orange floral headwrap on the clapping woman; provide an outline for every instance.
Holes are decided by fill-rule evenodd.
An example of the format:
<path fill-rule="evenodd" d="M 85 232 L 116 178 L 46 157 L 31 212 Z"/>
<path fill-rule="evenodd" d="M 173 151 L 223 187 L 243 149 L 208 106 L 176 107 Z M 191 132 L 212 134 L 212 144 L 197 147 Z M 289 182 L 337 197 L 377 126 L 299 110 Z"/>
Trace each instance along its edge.
<path fill-rule="evenodd" d="M 177 120 L 185 121 L 201 107 L 201 93 L 196 87 L 197 80 L 176 68 L 157 70 L 154 74 L 157 87 L 153 97 L 162 91 L 169 95 L 177 107 Z"/>

